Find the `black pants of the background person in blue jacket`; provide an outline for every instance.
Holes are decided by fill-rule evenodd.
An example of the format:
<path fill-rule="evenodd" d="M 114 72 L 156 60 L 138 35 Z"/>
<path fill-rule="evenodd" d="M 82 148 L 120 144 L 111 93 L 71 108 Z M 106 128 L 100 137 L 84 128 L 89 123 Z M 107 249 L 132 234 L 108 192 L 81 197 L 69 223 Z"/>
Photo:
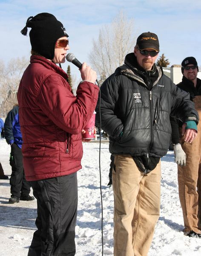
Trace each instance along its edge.
<path fill-rule="evenodd" d="M 25 179 L 22 150 L 15 143 L 11 145 L 10 165 L 12 167 L 11 194 L 18 198 L 20 198 L 20 192 L 21 195 L 29 195 L 30 183 Z"/>

